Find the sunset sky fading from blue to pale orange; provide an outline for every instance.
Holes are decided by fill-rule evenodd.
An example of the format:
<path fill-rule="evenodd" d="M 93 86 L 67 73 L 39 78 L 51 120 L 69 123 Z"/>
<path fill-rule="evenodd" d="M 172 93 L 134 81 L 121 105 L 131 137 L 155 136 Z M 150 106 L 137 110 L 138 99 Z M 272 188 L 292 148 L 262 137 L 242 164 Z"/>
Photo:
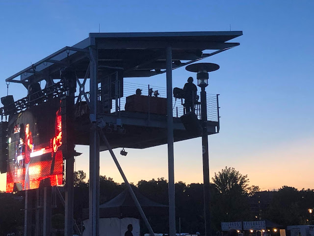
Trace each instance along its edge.
<path fill-rule="evenodd" d="M 242 30 L 240 46 L 203 60 L 220 65 L 209 93 L 219 93 L 221 130 L 209 136 L 210 174 L 225 166 L 262 189 L 314 188 L 314 1 L 0 1 L 0 96 L 5 78 L 89 32 Z M 173 71 L 173 87 L 192 74 Z M 165 75 L 129 82 L 165 87 Z M 11 84 L 15 99 L 26 95 Z M 88 148 L 76 169 L 88 172 Z M 120 151 L 116 150 L 116 153 Z M 129 181 L 167 178 L 167 147 L 118 155 Z M 108 153 L 101 174 L 121 182 Z M 5 188 L 0 175 L 0 190 Z M 175 179 L 202 182 L 201 140 L 175 144 Z"/>

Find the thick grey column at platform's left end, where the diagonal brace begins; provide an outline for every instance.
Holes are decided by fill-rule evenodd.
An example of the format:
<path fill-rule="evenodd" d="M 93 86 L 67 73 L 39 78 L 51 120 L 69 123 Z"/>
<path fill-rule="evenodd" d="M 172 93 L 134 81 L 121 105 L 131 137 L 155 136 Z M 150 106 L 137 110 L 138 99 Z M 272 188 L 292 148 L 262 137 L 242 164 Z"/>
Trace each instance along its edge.
<path fill-rule="evenodd" d="M 98 53 L 89 48 L 90 55 L 90 119 L 97 118 Z M 95 125 L 89 136 L 89 229 L 90 236 L 99 236 L 99 136 Z"/>

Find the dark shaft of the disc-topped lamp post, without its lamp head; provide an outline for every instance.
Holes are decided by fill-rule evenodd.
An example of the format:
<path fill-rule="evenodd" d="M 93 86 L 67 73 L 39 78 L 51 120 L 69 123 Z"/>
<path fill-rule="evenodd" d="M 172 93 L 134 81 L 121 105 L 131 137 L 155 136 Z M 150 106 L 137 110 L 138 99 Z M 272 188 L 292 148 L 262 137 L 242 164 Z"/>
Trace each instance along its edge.
<path fill-rule="evenodd" d="M 210 235 L 210 212 L 209 212 L 209 154 L 207 132 L 207 103 L 205 87 L 201 90 L 201 114 L 202 114 L 202 149 L 203 149 L 203 178 L 204 178 L 204 218 L 205 236 Z"/>

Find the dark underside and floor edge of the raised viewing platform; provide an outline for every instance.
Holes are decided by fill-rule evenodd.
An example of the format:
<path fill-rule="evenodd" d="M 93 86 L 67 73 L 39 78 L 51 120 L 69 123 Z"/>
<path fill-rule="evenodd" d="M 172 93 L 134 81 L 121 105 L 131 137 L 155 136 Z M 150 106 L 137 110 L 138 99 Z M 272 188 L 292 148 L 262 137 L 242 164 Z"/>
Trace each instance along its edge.
<path fill-rule="evenodd" d="M 121 111 L 120 117 L 112 114 L 100 114 L 107 124 L 121 123 L 126 133 L 121 134 L 112 130 L 111 133 L 104 133 L 112 148 L 151 148 L 167 143 L 167 120 L 164 115 L 148 114 Z M 219 123 L 208 121 L 208 135 L 217 133 Z M 89 145 L 90 121 L 87 115 L 77 119 L 76 144 Z M 187 132 L 180 118 L 173 118 L 174 142 L 197 138 Z M 100 150 L 106 150 L 101 143 Z"/>

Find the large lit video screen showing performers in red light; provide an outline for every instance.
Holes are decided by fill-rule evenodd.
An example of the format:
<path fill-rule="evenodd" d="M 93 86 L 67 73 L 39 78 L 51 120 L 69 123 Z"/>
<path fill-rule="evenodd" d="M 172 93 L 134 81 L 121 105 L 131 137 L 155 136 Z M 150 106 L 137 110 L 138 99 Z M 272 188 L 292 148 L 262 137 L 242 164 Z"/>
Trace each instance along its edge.
<path fill-rule="evenodd" d="M 63 183 L 61 120 L 60 100 L 53 99 L 9 122 L 6 192 Z"/>

